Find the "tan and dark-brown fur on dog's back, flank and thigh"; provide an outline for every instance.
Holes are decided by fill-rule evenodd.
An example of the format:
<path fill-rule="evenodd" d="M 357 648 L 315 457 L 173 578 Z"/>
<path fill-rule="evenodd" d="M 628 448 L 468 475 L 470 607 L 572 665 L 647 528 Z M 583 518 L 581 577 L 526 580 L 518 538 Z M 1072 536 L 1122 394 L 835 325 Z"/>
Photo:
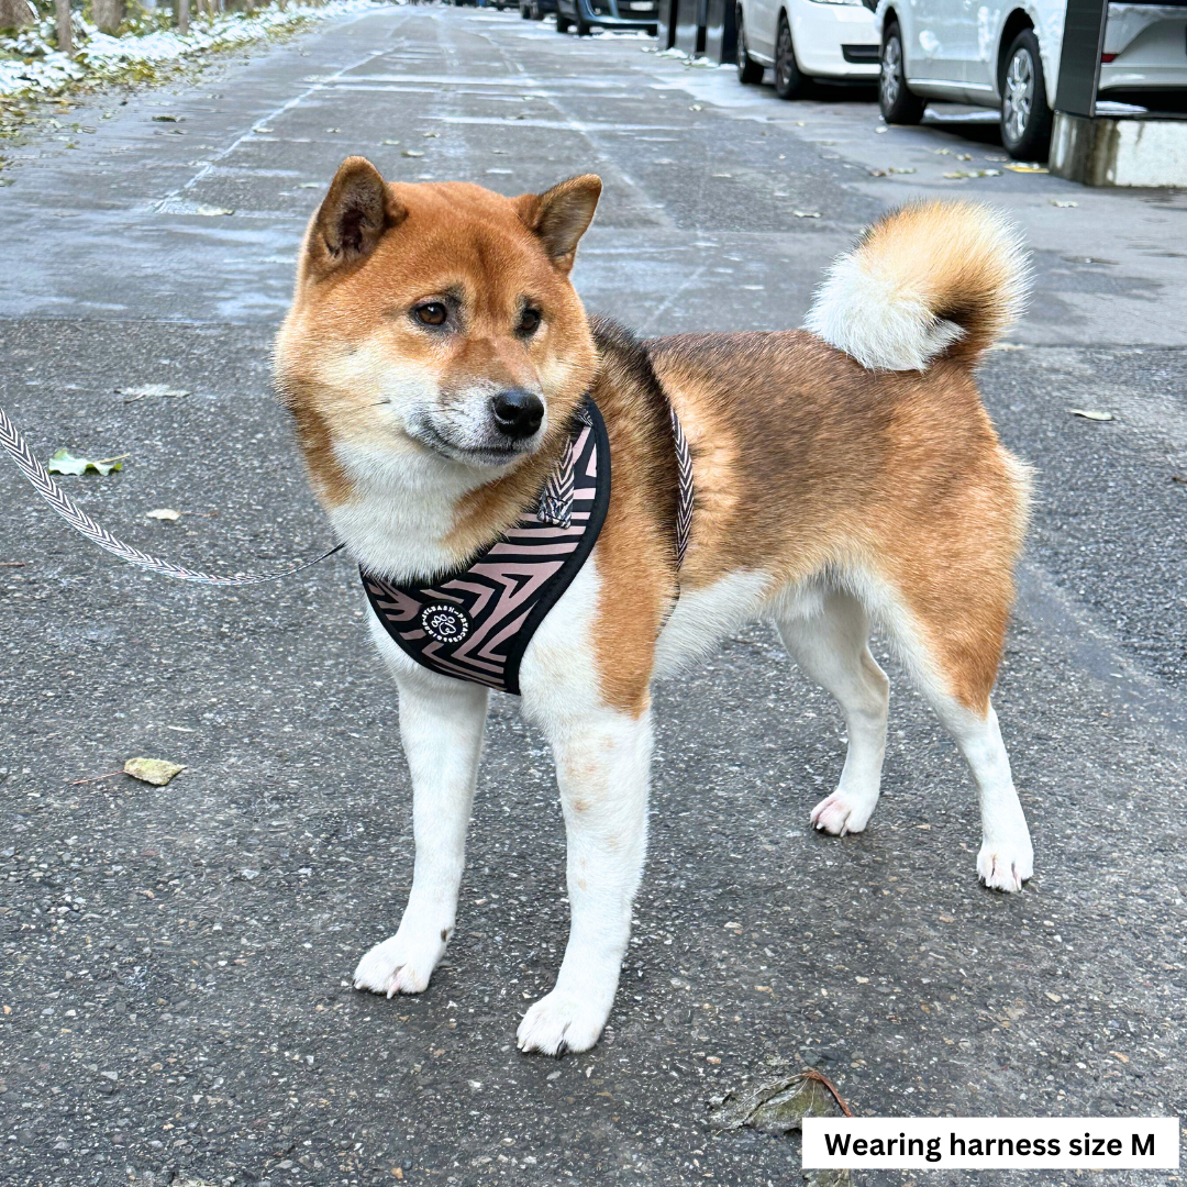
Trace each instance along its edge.
<path fill-rule="evenodd" d="M 776 585 L 874 571 L 919 621 L 951 691 L 983 712 L 1026 487 L 967 368 L 871 374 L 804 331 L 664 338 L 650 354 L 694 445 L 681 586 L 740 569 Z"/>

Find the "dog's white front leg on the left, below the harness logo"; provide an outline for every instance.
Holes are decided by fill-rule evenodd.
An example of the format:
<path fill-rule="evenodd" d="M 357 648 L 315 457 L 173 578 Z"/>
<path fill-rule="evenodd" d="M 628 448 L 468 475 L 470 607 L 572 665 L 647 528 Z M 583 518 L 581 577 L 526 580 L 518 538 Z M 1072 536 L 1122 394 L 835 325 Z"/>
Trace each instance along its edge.
<path fill-rule="evenodd" d="M 453 933 L 487 690 L 414 668 L 389 639 L 377 641 L 400 690 L 417 863 L 400 928 L 358 961 L 355 989 L 391 997 L 427 988 Z"/>

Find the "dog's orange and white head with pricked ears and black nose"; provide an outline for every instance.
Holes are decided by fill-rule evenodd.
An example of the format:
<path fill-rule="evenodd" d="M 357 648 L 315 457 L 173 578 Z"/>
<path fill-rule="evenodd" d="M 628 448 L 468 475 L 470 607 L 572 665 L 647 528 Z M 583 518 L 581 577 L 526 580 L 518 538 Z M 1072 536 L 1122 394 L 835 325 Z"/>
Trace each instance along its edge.
<path fill-rule="evenodd" d="M 478 484 L 556 439 L 596 368 L 569 273 L 601 191 L 589 174 L 504 198 L 343 161 L 277 342 L 323 499 L 393 464 Z"/>

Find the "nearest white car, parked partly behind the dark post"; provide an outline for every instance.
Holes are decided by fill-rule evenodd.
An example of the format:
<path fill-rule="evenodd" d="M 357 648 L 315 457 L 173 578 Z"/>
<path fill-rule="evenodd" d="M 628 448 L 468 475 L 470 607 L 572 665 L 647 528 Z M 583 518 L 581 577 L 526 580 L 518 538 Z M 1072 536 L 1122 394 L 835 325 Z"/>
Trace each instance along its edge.
<path fill-rule="evenodd" d="M 1007 152 L 1045 160 L 1066 6 L 1066 0 L 878 0 L 882 118 L 918 123 L 928 99 L 996 107 Z M 1187 0 L 1110 4 L 1100 61 L 1100 100 L 1149 104 L 1154 96 L 1154 106 L 1181 108 Z"/>

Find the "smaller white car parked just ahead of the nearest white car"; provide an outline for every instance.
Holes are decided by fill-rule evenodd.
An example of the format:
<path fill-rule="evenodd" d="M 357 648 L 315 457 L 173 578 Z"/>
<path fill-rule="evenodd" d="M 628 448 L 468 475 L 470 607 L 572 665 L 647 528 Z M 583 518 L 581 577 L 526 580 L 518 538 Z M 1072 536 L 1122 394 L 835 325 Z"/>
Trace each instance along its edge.
<path fill-rule="evenodd" d="M 781 99 L 802 94 L 812 78 L 874 82 L 878 38 L 862 0 L 738 0 L 738 80 L 762 82 L 774 66 Z"/>

